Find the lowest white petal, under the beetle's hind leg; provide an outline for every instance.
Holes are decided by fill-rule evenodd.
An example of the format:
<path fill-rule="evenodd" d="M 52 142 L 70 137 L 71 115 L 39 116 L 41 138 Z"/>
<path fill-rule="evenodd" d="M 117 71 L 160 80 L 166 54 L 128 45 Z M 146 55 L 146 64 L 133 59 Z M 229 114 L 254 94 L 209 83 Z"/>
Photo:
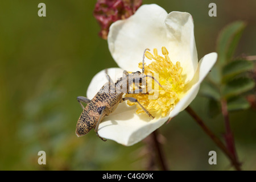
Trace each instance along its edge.
<path fill-rule="evenodd" d="M 131 146 L 146 138 L 168 119 L 151 119 L 146 114 L 136 114 L 136 110 L 136 106 L 128 106 L 125 102 L 119 104 L 117 109 L 101 122 L 98 134 L 125 146 Z"/>

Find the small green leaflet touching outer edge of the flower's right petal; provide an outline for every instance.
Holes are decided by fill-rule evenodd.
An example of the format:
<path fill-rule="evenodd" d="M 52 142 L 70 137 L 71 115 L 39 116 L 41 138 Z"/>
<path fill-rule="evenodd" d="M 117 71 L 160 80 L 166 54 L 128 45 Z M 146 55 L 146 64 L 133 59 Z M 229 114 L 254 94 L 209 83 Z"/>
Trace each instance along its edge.
<path fill-rule="evenodd" d="M 220 92 L 211 82 L 204 81 L 200 86 L 200 94 L 202 96 L 212 98 L 216 101 L 220 100 Z"/>

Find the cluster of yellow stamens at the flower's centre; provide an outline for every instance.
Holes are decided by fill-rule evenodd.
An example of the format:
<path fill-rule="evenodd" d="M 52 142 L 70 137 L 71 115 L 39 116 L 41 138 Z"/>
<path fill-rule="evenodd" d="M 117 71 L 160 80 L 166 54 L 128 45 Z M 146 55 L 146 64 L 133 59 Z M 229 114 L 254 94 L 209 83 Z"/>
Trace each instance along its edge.
<path fill-rule="evenodd" d="M 145 109 L 147 109 L 155 117 L 166 117 L 172 109 L 174 109 L 176 103 L 179 101 L 181 94 L 184 90 L 184 75 L 183 69 L 180 67 L 180 62 L 177 61 L 173 64 L 168 56 L 166 47 L 162 47 L 163 56 L 158 55 L 158 51 L 154 49 L 154 55 L 150 52 L 146 52 L 145 56 L 153 60 L 149 65 L 144 65 L 144 74 L 151 75 L 158 80 L 159 84 L 147 77 L 147 85 L 152 84 L 150 90 L 147 89 L 147 94 L 126 94 L 126 97 L 134 97 L 141 103 Z M 142 63 L 139 63 L 139 68 L 142 69 Z M 158 75 L 156 75 L 158 74 Z M 156 85 L 157 84 L 157 85 Z M 154 99 L 148 99 L 151 96 L 157 96 Z M 137 103 L 127 102 L 128 105 L 137 105 L 136 113 L 145 113 L 144 110 Z"/>

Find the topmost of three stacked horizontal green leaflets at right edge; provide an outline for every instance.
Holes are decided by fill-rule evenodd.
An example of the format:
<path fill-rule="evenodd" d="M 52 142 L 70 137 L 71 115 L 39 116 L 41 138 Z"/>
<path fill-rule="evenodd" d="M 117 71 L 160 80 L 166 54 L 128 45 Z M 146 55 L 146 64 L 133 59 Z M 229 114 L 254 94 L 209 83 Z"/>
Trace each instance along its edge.
<path fill-rule="evenodd" d="M 252 61 L 236 60 L 225 65 L 222 69 L 222 81 L 226 81 L 240 73 L 253 69 L 254 64 Z"/>

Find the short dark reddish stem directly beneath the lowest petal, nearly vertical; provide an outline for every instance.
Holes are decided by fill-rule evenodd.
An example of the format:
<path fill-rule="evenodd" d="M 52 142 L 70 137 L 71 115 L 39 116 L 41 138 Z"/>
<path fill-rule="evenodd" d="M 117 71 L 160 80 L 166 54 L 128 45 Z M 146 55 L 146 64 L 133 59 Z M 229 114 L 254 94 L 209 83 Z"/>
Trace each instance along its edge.
<path fill-rule="evenodd" d="M 166 160 L 166 158 L 164 156 L 162 147 L 160 146 L 160 143 L 159 143 L 159 140 L 158 140 L 158 131 L 157 130 L 155 130 L 151 134 L 151 138 L 152 138 L 152 141 L 153 141 L 154 146 L 155 146 L 155 153 L 156 153 L 157 158 L 159 160 L 160 168 L 163 171 L 168 171 L 168 166 L 167 166 L 167 163 L 166 163 L 167 160 Z"/>

